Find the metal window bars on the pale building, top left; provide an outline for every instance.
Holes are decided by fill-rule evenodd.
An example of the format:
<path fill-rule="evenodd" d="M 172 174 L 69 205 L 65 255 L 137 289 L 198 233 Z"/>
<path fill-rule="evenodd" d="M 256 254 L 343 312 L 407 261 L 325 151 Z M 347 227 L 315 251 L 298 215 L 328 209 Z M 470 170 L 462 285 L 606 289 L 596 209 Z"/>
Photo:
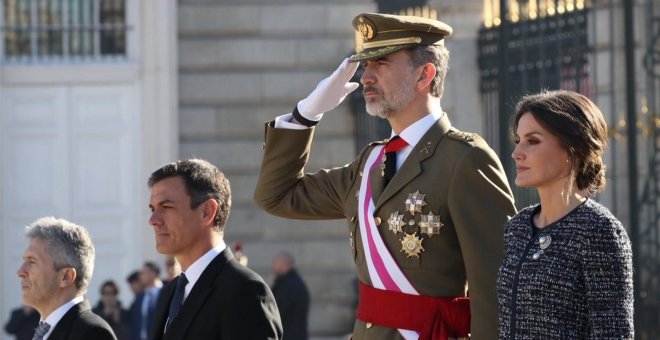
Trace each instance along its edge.
<path fill-rule="evenodd" d="M 0 0 L 3 63 L 123 60 L 125 0 Z"/>

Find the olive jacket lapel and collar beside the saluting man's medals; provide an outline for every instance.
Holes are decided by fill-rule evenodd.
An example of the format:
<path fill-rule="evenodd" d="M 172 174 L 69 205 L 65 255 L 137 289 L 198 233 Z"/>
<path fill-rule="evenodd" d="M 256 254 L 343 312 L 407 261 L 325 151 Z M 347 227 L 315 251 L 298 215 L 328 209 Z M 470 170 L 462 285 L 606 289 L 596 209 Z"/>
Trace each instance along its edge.
<path fill-rule="evenodd" d="M 451 128 L 447 114 L 443 114 L 438 121 L 419 140 L 406 158 L 399 171 L 394 174 L 390 183 L 383 190 L 382 195 L 376 201 L 376 210 L 396 193 L 403 189 L 410 181 L 422 173 L 422 162 L 431 157 L 445 134 Z M 382 181 L 381 181 L 382 182 Z"/>

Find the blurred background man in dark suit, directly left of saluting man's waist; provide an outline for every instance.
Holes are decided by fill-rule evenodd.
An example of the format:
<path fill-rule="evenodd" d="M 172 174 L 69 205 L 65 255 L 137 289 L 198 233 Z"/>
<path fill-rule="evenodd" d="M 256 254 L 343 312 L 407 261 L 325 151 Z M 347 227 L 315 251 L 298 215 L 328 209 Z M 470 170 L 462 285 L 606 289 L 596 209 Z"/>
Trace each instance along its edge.
<path fill-rule="evenodd" d="M 307 340 L 309 291 L 294 267 L 293 256 L 279 252 L 273 258 L 273 295 L 282 318 L 284 340 Z"/>

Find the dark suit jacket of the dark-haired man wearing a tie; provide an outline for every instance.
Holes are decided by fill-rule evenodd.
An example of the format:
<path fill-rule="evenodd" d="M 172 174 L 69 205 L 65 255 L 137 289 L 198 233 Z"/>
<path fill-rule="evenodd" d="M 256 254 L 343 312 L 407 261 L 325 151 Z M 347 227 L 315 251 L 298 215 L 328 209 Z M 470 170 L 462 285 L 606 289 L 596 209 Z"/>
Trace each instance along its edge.
<path fill-rule="evenodd" d="M 281 339 L 275 298 L 264 280 L 225 249 L 209 263 L 163 334 L 175 280 L 163 287 L 152 340 Z"/>

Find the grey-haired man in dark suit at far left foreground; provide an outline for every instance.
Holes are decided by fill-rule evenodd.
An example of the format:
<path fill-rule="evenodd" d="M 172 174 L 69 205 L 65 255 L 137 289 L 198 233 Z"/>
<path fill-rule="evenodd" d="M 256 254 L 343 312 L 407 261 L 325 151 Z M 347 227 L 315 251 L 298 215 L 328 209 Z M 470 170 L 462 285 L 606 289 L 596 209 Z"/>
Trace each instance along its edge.
<path fill-rule="evenodd" d="M 44 217 L 26 229 L 30 240 L 18 269 L 23 303 L 41 321 L 33 339 L 116 340 L 115 334 L 83 294 L 94 270 L 94 245 L 87 230 L 62 219 Z"/>

